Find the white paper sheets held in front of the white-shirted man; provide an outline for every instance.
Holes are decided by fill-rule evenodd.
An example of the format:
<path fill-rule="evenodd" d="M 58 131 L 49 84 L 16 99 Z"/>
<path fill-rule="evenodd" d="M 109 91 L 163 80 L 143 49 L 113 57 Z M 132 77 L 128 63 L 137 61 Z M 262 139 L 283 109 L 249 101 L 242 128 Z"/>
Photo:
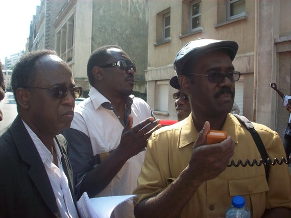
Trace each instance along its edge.
<path fill-rule="evenodd" d="M 87 192 L 84 192 L 77 202 L 77 207 L 81 218 L 110 218 L 116 206 L 135 196 L 108 196 L 89 199 Z"/>

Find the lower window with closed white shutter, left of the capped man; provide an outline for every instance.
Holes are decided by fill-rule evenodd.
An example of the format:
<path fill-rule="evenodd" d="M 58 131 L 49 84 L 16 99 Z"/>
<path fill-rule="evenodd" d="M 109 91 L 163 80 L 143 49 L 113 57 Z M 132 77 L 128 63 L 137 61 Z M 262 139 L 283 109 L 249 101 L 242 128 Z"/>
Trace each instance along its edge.
<path fill-rule="evenodd" d="M 155 111 L 168 112 L 168 81 L 157 81 Z"/>

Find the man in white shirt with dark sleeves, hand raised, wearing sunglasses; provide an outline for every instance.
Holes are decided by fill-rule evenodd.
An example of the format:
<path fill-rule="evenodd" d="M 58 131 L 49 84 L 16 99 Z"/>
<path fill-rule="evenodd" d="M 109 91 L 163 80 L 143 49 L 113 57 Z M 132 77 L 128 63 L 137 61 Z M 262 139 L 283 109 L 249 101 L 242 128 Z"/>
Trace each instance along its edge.
<path fill-rule="evenodd" d="M 64 132 L 78 197 L 84 191 L 89 197 L 131 195 L 137 185 L 147 139 L 160 125 L 149 105 L 131 95 L 135 71 L 116 45 L 96 49 L 88 60 L 89 98 L 75 108 Z M 134 217 L 132 201 L 113 213 Z"/>

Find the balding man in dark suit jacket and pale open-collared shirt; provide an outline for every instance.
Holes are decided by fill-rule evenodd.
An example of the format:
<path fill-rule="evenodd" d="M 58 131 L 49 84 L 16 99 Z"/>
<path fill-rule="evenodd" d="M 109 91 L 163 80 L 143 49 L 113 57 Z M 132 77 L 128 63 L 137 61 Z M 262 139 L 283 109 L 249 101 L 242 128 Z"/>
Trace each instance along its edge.
<path fill-rule="evenodd" d="M 0 217 L 78 217 L 67 142 L 82 94 L 56 52 L 39 50 L 14 66 L 18 115 L 0 136 Z"/>

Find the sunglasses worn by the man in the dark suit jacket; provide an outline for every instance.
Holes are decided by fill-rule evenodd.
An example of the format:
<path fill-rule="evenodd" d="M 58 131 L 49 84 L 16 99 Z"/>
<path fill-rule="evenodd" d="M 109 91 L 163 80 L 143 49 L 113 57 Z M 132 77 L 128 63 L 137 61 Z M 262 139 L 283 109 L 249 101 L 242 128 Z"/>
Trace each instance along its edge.
<path fill-rule="evenodd" d="M 73 88 L 67 88 L 65 86 L 55 86 L 53 88 L 41 88 L 35 86 L 27 86 L 25 88 L 39 88 L 39 89 L 47 89 L 53 91 L 53 96 L 57 99 L 63 99 L 68 93 L 68 90 L 71 92 L 73 98 L 78 99 L 81 97 L 83 93 L 83 88 L 80 86 L 75 86 Z"/>

